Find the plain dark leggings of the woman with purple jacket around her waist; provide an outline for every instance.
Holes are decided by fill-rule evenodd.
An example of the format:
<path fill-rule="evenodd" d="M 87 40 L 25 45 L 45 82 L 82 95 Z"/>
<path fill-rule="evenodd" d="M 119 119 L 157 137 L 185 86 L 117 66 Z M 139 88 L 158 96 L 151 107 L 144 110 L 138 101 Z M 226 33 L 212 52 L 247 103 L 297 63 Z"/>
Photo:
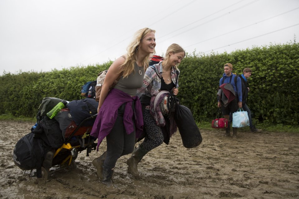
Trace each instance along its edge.
<path fill-rule="evenodd" d="M 118 108 L 118 114 L 111 132 L 106 136 L 107 156 L 104 161 L 104 167 L 114 168 L 116 161 L 123 155 L 133 152 L 135 146 L 135 125 L 134 132 L 127 134 L 123 122 L 126 103 Z M 133 124 L 134 119 L 132 118 Z"/>

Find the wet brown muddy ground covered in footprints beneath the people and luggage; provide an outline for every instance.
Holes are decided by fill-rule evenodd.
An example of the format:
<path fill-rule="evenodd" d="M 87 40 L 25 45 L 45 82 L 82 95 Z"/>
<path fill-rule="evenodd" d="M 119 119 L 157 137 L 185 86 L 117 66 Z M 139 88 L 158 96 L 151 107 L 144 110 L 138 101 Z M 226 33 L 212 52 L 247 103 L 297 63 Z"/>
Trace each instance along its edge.
<path fill-rule="evenodd" d="M 37 180 L 35 170 L 22 171 L 12 161 L 17 141 L 32 123 L 0 121 L 0 198 L 299 198 L 299 133 L 239 132 L 236 140 L 221 130 L 201 130 L 200 146 L 183 147 L 179 132 L 141 160 L 139 179 L 127 173 L 126 160 L 116 163 L 108 194 L 100 187 L 92 160 L 105 150 L 78 155 L 76 169 L 50 169 L 50 181 Z"/>

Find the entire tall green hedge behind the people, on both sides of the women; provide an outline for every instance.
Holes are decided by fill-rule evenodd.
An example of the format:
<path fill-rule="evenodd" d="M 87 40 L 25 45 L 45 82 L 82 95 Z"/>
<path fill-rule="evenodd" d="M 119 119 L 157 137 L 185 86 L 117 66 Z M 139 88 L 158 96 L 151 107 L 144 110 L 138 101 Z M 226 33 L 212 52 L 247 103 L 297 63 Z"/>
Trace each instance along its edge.
<path fill-rule="evenodd" d="M 187 54 L 179 66 L 178 98 L 191 109 L 197 121 L 216 117 L 216 93 L 227 62 L 233 64 L 233 72 L 237 74 L 245 67 L 253 70 L 247 104 L 255 122 L 298 125 L 299 44 L 296 42 L 232 53 Z M 81 86 L 95 80 L 97 73 L 111 63 L 51 72 L 4 73 L 0 76 L 0 114 L 34 117 L 44 97 L 81 99 Z"/>

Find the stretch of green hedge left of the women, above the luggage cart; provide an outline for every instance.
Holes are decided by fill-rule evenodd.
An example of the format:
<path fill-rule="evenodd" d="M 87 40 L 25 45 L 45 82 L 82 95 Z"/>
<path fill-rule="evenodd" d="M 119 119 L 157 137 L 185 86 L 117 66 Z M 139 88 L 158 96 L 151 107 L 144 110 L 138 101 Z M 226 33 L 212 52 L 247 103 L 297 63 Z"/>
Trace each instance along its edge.
<path fill-rule="evenodd" d="M 109 68 L 102 65 L 71 67 L 51 72 L 4 73 L 0 76 L 0 114 L 35 117 L 44 97 L 65 100 L 82 99 L 81 86 L 97 79 L 97 74 Z"/>

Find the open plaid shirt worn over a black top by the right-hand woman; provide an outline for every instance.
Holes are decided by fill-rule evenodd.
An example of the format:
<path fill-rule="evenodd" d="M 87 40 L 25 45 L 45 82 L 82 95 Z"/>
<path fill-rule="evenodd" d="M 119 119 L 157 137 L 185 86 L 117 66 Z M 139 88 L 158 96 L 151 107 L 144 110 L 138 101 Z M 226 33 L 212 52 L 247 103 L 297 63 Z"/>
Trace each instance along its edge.
<path fill-rule="evenodd" d="M 153 65 L 159 74 L 159 76 L 162 76 L 162 61 Z M 177 69 L 175 67 L 171 68 L 171 79 L 175 83 L 177 74 Z M 138 97 L 141 97 L 142 94 L 145 94 L 149 97 L 157 96 L 160 92 L 161 88 L 161 79 L 157 76 L 157 73 L 154 71 L 153 68 L 148 67 L 145 71 L 144 78 L 143 78 L 143 85 L 141 88 L 137 89 L 136 95 Z M 180 74 L 180 71 L 178 70 L 178 74 Z M 176 85 L 178 88 L 178 84 Z"/>

